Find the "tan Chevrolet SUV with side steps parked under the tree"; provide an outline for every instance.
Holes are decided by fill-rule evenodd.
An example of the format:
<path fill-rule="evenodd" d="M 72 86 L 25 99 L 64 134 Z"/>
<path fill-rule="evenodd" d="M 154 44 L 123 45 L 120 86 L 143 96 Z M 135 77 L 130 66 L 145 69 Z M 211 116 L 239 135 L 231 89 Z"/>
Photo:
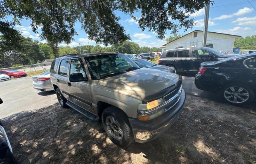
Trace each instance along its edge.
<path fill-rule="evenodd" d="M 50 77 L 62 107 L 101 119 L 121 147 L 158 137 L 185 102 L 180 75 L 140 68 L 122 53 L 65 55 L 52 62 Z"/>

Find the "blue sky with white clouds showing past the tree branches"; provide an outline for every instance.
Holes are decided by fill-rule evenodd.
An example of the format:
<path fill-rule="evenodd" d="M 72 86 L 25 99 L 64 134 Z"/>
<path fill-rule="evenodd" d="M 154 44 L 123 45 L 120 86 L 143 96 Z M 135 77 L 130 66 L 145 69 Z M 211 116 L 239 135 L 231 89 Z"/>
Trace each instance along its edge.
<path fill-rule="evenodd" d="M 208 31 L 210 32 L 220 32 L 226 34 L 234 34 L 240 36 L 252 36 L 256 35 L 256 0 L 214 0 L 214 5 L 210 6 L 210 21 Z M 254 8 L 252 7 L 254 6 Z M 117 16 L 120 16 L 120 23 L 124 26 L 126 33 L 130 34 L 132 38 L 131 41 L 138 43 L 140 46 L 149 46 L 149 47 L 161 47 L 166 41 L 156 39 L 156 34 L 148 32 L 145 30 L 142 32 L 138 27 L 138 23 L 130 18 L 129 15 L 125 15 L 122 12 L 116 12 Z M 140 18 L 140 13 L 136 13 L 135 16 Z M 193 30 L 203 30 L 204 24 L 204 9 L 199 10 L 198 12 L 191 14 L 190 18 L 195 18 L 197 25 L 189 29 L 188 32 Z M 33 40 L 40 40 L 39 34 L 32 32 L 30 28 L 29 20 L 22 20 L 22 26 L 16 26 L 18 30 L 26 37 L 30 37 Z M 74 36 L 74 40 L 71 41 L 70 45 L 78 46 L 88 44 L 88 38 L 86 33 L 81 30 L 81 24 L 78 22 L 76 24 L 76 31 L 78 36 Z M 184 32 L 184 29 L 179 30 L 179 34 L 187 34 Z M 166 37 L 170 36 L 170 32 L 167 31 Z M 44 40 L 41 40 L 45 42 Z M 89 43 L 96 45 L 94 41 L 89 40 Z M 62 43 L 60 46 L 66 46 Z M 103 45 L 102 45 L 103 46 Z"/>

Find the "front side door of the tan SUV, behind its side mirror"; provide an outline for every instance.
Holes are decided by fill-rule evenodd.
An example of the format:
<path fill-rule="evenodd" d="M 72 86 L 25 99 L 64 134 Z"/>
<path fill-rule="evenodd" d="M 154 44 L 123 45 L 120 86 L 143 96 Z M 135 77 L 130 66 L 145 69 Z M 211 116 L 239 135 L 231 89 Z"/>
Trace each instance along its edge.
<path fill-rule="evenodd" d="M 83 76 L 86 77 L 84 64 L 79 57 L 71 58 L 69 70 L 69 75 L 72 73 L 82 73 Z M 89 85 L 87 82 L 88 81 L 70 82 L 68 80 L 68 93 L 70 96 L 70 101 L 83 109 L 94 112 L 92 108 L 91 85 Z"/>

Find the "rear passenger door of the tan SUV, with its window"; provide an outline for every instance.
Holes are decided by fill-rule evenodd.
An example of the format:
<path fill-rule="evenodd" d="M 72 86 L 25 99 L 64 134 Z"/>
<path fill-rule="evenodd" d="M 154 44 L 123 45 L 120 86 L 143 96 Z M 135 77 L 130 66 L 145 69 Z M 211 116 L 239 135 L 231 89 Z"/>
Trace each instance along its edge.
<path fill-rule="evenodd" d="M 58 87 L 60 88 L 60 91 L 63 93 L 62 95 L 68 99 L 68 85 L 67 85 L 67 75 L 68 75 L 68 62 L 69 59 L 65 58 L 60 61 L 60 67 L 58 70 L 58 74 L 56 74 L 56 83 Z"/>

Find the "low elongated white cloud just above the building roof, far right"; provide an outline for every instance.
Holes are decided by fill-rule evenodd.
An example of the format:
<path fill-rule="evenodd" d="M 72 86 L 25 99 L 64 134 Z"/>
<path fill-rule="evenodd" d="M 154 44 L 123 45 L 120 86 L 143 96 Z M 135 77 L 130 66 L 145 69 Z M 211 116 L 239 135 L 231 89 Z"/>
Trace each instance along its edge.
<path fill-rule="evenodd" d="M 226 29 L 226 30 L 220 29 L 220 30 L 216 30 L 215 32 L 233 34 L 233 35 L 239 35 L 239 36 L 252 36 L 256 34 L 256 31 L 254 31 L 253 29 L 248 27 L 242 28 L 240 26 L 237 26 L 231 29 Z"/>

